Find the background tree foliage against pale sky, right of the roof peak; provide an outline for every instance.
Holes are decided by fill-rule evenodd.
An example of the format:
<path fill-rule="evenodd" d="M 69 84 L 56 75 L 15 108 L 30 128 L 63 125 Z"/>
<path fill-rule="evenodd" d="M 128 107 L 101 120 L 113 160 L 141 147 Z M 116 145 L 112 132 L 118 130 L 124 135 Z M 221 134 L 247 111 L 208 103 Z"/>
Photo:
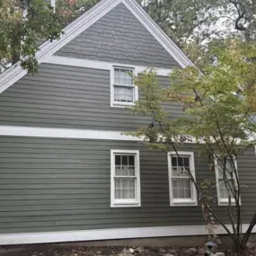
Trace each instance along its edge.
<path fill-rule="evenodd" d="M 255 0 L 140 0 L 146 12 L 181 48 L 213 39 L 255 40 Z"/>

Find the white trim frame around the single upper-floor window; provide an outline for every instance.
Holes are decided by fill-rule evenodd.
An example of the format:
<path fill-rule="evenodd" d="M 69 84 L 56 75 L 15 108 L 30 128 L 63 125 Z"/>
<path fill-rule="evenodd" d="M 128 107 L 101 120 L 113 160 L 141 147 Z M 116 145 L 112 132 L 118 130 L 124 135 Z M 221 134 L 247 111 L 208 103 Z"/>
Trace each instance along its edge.
<path fill-rule="evenodd" d="M 135 105 L 135 102 L 138 100 L 138 90 L 137 86 L 134 86 L 134 101 L 135 102 L 115 102 L 115 92 L 114 92 L 114 84 L 115 84 L 115 68 L 128 69 L 133 71 L 133 74 L 137 76 L 137 67 L 136 66 L 112 66 L 110 69 L 110 107 L 114 108 L 128 108 Z"/>

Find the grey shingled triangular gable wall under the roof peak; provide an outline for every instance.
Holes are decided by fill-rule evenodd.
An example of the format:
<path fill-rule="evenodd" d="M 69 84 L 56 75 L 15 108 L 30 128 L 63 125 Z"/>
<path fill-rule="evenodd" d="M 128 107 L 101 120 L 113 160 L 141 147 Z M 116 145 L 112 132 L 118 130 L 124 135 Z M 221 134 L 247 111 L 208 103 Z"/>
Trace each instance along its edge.
<path fill-rule="evenodd" d="M 179 66 L 124 4 L 116 6 L 56 55 L 140 66 Z"/>

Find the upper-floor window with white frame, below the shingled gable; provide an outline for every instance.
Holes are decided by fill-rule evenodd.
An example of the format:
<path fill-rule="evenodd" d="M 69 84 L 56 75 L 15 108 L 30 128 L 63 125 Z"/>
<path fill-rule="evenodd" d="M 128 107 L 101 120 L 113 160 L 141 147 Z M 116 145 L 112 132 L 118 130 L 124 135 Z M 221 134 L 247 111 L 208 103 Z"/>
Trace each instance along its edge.
<path fill-rule="evenodd" d="M 113 68 L 111 78 L 111 106 L 132 106 L 137 101 L 137 87 L 133 84 L 134 69 Z"/>

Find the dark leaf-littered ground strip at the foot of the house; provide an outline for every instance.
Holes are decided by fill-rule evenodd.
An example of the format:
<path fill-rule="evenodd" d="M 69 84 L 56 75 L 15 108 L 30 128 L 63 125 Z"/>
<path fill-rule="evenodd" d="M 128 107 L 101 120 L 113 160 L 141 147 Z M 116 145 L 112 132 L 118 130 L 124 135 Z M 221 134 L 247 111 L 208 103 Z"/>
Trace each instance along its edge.
<path fill-rule="evenodd" d="M 143 248 L 142 252 L 134 252 L 135 256 L 202 256 L 203 250 L 196 248 Z M 83 247 L 73 245 L 19 245 L 0 246 L 0 256 L 129 256 L 127 247 Z M 134 248 L 135 249 L 135 248 Z M 226 251 L 225 256 L 237 255 L 233 251 Z M 252 248 L 247 253 L 248 256 L 256 256 L 256 249 Z"/>

